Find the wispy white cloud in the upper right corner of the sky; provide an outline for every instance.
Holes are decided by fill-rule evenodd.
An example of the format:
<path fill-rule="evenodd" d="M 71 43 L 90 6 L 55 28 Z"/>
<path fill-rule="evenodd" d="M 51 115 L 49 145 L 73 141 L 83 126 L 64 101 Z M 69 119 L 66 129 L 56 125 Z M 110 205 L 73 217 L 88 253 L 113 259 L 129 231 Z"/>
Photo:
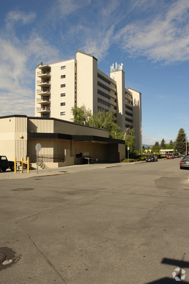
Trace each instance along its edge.
<path fill-rule="evenodd" d="M 169 5 L 149 22 L 145 19 L 126 24 L 117 40 L 131 57 L 147 56 L 152 61 L 185 61 L 189 59 L 188 0 Z"/>

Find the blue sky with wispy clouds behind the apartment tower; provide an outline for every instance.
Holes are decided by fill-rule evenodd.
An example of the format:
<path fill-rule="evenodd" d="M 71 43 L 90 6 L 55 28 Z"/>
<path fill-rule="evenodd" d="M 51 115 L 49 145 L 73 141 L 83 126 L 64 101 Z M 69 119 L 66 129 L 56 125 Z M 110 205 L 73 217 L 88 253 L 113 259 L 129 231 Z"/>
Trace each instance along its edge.
<path fill-rule="evenodd" d="M 34 116 L 35 67 L 81 50 L 107 75 L 124 64 L 125 87 L 142 94 L 143 144 L 189 137 L 188 0 L 7 0 L 0 18 L 0 116 Z"/>

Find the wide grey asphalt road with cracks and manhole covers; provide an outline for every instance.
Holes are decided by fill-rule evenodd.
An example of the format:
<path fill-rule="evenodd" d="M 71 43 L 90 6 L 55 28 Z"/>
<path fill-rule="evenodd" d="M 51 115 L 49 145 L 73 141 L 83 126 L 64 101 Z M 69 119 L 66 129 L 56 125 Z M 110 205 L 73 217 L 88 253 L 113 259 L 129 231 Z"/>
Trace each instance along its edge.
<path fill-rule="evenodd" d="M 179 161 L 1 180 L 0 282 L 168 284 L 182 267 L 189 283 L 189 170 Z"/>

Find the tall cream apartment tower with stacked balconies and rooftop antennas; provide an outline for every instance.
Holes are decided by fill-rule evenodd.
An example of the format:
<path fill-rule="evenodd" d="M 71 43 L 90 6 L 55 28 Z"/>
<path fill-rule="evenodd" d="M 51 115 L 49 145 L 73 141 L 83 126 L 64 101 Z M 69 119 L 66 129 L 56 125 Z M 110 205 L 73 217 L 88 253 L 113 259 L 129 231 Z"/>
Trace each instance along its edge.
<path fill-rule="evenodd" d="M 110 77 L 97 68 L 97 59 L 76 50 L 76 59 L 36 67 L 35 116 L 70 121 L 74 105 L 112 111 L 117 124 L 135 128 L 136 149 L 141 147 L 141 93 L 125 88 L 123 64 L 111 66 Z"/>

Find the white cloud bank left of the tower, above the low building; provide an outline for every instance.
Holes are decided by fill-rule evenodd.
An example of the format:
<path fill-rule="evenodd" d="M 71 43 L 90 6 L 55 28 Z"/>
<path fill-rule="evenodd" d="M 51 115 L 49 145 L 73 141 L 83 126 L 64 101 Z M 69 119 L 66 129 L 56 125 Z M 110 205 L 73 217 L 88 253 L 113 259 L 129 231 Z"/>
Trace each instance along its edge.
<path fill-rule="evenodd" d="M 13 16 L 13 17 L 12 17 Z M 11 18 L 12 17 L 12 18 Z M 57 60 L 59 52 L 35 32 L 29 38 L 19 39 L 14 34 L 13 23 L 32 21 L 34 13 L 11 11 L 7 15 L 6 30 L 0 34 L 0 116 L 8 114 L 35 115 L 35 66 L 42 60 Z M 12 19 L 12 20 L 10 20 Z M 28 21 L 27 21 L 28 19 Z M 7 33 L 12 27 L 13 33 Z"/>

